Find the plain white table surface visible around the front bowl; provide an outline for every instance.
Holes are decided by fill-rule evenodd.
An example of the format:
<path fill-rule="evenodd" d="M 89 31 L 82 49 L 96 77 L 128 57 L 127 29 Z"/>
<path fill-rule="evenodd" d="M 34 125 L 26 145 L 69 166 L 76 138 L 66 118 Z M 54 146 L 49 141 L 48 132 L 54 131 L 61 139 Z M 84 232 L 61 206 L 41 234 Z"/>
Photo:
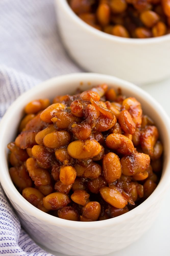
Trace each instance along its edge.
<path fill-rule="evenodd" d="M 170 117 L 170 79 L 141 88 L 150 93 Z M 55 255 L 63 256 L 61 253 Z M 103 256 L 170 256 L 170 184 L 152 227 L 138 241 L 125 249 Z"/>

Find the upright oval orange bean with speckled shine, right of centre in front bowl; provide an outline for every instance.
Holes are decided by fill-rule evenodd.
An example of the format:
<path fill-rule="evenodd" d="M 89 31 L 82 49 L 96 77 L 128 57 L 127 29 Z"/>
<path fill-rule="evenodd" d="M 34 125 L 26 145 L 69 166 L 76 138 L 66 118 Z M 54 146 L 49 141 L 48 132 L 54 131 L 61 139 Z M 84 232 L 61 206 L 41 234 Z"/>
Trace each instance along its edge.
<path fill-rule="evenodd" d="M 103 157 L 103 175 L 108 183 L 113 183 L 120 179 L 122 174 L 121 163 L 119 157 L 109 152 Z"/>

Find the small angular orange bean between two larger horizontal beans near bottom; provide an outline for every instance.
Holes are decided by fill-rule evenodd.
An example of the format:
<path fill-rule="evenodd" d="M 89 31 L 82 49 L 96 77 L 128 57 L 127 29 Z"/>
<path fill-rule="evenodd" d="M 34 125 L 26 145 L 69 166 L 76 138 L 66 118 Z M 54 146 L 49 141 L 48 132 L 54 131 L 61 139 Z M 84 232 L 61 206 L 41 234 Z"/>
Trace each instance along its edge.
<path fill-rule="evenodd" d="M 83 190 L 83 189 L 77 189 L 74 191 L 74 193 L 71 195 L 71 199 L 73 202 L 79 205 L 85 205 L 89 201 L 89 194 Z"/>

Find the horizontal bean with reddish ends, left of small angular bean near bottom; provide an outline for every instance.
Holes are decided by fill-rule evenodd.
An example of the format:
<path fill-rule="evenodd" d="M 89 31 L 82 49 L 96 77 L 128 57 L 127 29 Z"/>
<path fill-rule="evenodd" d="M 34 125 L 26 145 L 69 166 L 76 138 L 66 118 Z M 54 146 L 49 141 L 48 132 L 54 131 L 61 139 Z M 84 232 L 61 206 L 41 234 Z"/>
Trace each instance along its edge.
<path fill-rule="evenodd" d="M 59 210 L 70 202 L 69 197 L 61 192 L 54 192 L 43 198 L 43 205 L 47 210 Z"/>

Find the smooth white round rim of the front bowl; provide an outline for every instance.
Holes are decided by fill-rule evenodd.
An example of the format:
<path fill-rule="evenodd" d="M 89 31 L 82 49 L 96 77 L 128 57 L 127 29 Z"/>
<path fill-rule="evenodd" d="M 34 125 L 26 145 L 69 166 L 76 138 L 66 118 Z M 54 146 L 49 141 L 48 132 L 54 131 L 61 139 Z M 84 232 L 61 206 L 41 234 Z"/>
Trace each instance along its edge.
<path fill-rule="evenodd" d="M 124 81 L 122 79 L 110 76 L 110 75 L 104 75 L 104 74 L 98 74 L 98 73 L 72 73 L 72 74 L 66 74 L 58 77 L 51 78 L 49 80 L 46 80 L 45 82 L 37 84 L 32 89 L 28 90 L 27 92 L 24 92 L 21 94 L 8 108 L 6 113 L 4 114 L 1 122 L 0 122 L 0 145 L 3 145 L 3 137 L 6 131 L 6 124 L 9 124 L 9 114 L 15 113 L 15 108 L 19 108 L 20 101 L 25 101 L 27 97 L 31 97 L 32 94 L 36 91 L 36 94 L 40 91 L 42 91 L 42 88 L 48 87 L 53 88 L 58 83 L 62 83 L 63 81 L 66 83 L 69 81 L 82 81 L 91 79 L 92 82 L 97 80 L 100 81 L 100 78 L 106 79 L 106 83 L 113 83 L 117 86 L 123 86 L 123 90 L 127 87 L 128 90 L 135 91 L 139 95 L 142 95 L 142 97 L 145 97 L 146 101 L 150 102 L 157 111 L 159 111 L 159 115 L 161 115 L 162 120 L 166 120 L 166 129 L 167 129 L 167 147 L 168 152 L 170 151 L 170 133 L 168 133 L 168 129 L 170 129 L 170 119 L 168 115 L 166 114 L 165 110 L 162 108 L 162 106 L 151 97 L 150 94 L 148 94 L 146 91 L 142 90 L 141 88 L 135 86 L 134 84 Z M 90 80 L 90 81 L 91 81 Z M 94 80 L 94 81 L 93 81 Z M 45 89 L 43 89 L 45 90 Z M 46 89 L 47 90 L 47 89 Z M 15 188 L 14 184 L 12 183 L 12 180 L 10 179 L 9 172 L 8 172 L 8 166 L 6 162 L 6 152 L 5 152 L 5 145 L 0 147 L 0 181 L 3 189 L 5 190 L 5 193 L 7 197 L 9 196 L 10 199 L 14 202 L 13 204 L 19 204 L 21 209 L 23 209 L 24 213 L 27 213 L 30 216 L 33 216 L 35 218 L 41 219 L 41 221 L 45 221 L 45 223 L 48 223 L 48 225 L 55 225 L 58 227 L 65 227 L 65 228 L 72 228 L 72 229 L 91 229 L 91 228 L 102 228 L 102 227 L 109 227 L 111 225 L 117 225 L 119 223 L 123 223 L 125 220 L 128 221 L 128 219 L 135 218 L 136 215 L 141 214 L 143 209 L 148 209 L 155 201 L 155 199 L 158 199 L 162 194 L 165 193 L 166 188 L 170 184 L 170 175 L 168 174 L 168 170 L 170 170 L 170 161 L 168 161 L 166 164 L 166 172 L 163 174 L 163 177 L 161 178 L 158 186 L 153 191 L 153 193 L 144 201 L 142 204 L 134 208 L 133 210 L 130 210 L 129 212 L 117 216 L 116 218 L 102 220 L 102 221 L 92 221 L 92 222 L 79 222 L 79 221 L 70 221 L 65 219 L 60 219 L 54 216 L 49 215 L 48 213 L 45 213 L 33 205 L 31 205 L 27 200 L 25 200 L 22 195 L 18 192 L 18 190 Z M 4 159 L 4 161 L 3 161 Z M 6 169 L 6 171 L 4 171 Z M 48 218 L 47 218 L 48 216 Z"/>

